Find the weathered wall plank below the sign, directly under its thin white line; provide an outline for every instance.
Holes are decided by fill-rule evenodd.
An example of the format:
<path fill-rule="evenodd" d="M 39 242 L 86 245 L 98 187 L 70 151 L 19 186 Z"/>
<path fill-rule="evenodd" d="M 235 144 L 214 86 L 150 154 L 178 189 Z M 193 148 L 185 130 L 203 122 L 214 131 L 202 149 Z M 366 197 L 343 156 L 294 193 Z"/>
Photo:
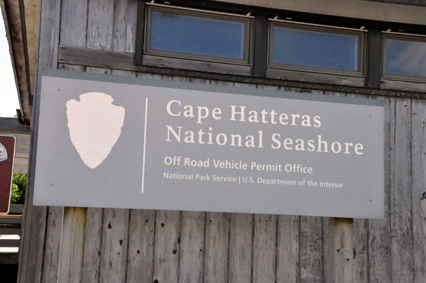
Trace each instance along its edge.
<path fill-rule="evenodd" d="M 153 282 L 155 211 L 131 209 L 127 283 Z"/>

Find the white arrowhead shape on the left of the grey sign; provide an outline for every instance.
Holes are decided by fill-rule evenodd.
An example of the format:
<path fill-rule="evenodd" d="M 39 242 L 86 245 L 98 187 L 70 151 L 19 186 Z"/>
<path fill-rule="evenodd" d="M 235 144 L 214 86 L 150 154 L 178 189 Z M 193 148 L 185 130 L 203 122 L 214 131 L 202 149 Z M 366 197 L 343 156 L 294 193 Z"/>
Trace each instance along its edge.
<path fill-rule="evenodd" d="M 109 155 L 121 135 L 124 107 L 112 104 L 102 92 L 80 95 L 80 101 L 67 101 L 70 139 L 87 167 L 98 167 Z"/>

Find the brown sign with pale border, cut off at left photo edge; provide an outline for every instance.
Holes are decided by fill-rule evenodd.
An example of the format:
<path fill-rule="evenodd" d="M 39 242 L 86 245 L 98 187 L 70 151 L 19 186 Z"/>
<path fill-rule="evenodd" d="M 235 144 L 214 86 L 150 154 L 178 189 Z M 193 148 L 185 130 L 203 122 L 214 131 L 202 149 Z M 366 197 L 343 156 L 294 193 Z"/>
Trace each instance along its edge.
<path fill-rule="evenodd" d="M 0 213 L 9 213 L 16 138 L 0 135 Z"/>

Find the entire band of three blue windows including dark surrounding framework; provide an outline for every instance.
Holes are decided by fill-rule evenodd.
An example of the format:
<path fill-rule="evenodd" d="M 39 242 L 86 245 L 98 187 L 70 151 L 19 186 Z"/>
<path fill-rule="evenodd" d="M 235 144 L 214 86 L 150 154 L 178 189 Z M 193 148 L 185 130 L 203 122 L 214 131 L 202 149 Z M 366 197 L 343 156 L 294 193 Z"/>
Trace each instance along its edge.
<path fill-rule="evenodd" d="M 424 26 L 220 1 L 174 2 L 185 7 L 139 3 L 135 59 L 143 67 L 177 74 L 195 71 L 196 77 L 200 72 L 209 78 L 224 74 L 235 81 L 242 79 L 233 77 L 238 75 L 244 82 L 283 79 L 323 88 L 426 92 L 426 35 L 382 31 L 422 33 Z M 364 25 L 369 32 L 356 28 Z"/>

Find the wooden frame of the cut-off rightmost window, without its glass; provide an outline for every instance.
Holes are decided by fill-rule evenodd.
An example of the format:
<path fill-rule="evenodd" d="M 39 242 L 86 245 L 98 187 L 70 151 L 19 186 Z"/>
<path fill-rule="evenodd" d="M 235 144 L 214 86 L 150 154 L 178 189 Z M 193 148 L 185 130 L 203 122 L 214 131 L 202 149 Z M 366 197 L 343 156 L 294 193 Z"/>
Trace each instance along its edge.
<path fill-rule="evenodd" d="M 403 74 L 386 74 L 386 39 L 418 41 L 426 44 L 426 35 L 417 35 L 410 33 L 395 33 L 391 31 L 382 31 L 382 62 L 381 62 L 381 77 L 382 79 L 390 79 L 400 82 L 425 83 L 426 77 L 407 76 Z M 424 85 L 422 85 L 424 87 Z"/>

